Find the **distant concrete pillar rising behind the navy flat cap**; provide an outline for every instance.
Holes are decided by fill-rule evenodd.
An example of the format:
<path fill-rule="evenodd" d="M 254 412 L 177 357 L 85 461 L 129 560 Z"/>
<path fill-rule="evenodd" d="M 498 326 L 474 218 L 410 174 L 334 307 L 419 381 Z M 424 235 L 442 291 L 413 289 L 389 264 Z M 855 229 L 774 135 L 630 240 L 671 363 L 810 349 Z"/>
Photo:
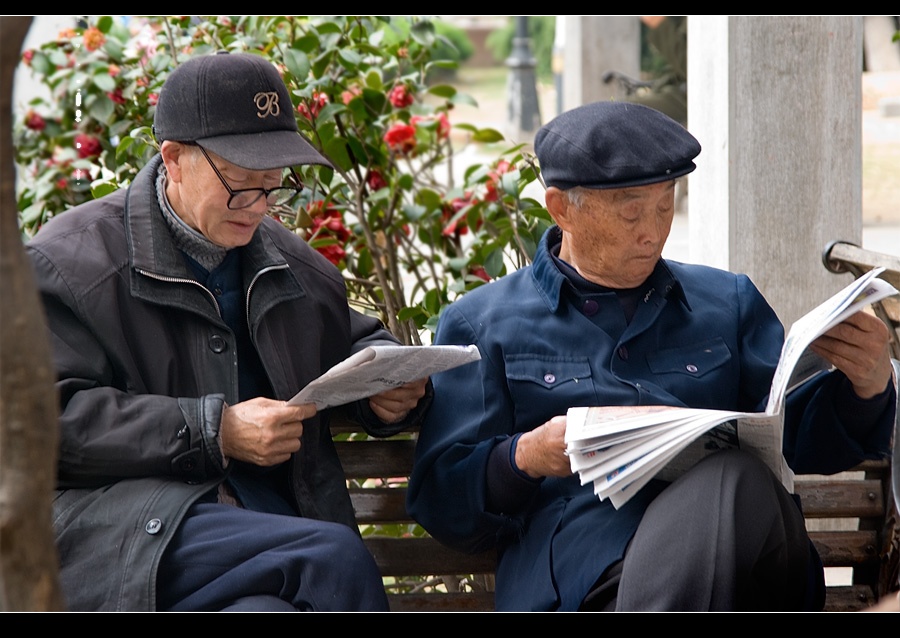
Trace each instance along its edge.
<path fill-rule="evenodd" d="M 600 78 L 607 71 L 640 77 L 641 28 L 638 16 L 565 18 L 563 110 L 624 97 L 616 84 L 603 84 Z"/>

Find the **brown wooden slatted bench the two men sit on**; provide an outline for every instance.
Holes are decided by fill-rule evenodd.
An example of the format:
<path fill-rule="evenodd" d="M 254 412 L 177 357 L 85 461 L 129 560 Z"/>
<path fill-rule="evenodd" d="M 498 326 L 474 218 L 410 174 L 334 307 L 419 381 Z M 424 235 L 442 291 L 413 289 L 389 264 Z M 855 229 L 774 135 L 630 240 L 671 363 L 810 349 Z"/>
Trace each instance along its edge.
<path fill-rule="evenodd" d="M 835 244 L 826 260 L 835 272 L 854 274 L 862 272 L 854 269 L 876 264 L 891 269 L 896 278 L 890 281 L 900 289 L 896 258 Z M 886 302 L 878 312 L 889 313 L 882 318 L 893 326 L 896 339 L 900 308 L 894 299 Z M 897 347 L 897 341 L 892 345 Z M 900 359 L 900 349 L 894 356 Z M 373 440 L 349 423 L 334 424 L 332 430 L 357 520 L 384 576 L 391 610 L 493 611 L 494 555 L 448 549 L 406 513 L 415 433 Z M 850 584 L 829 585 L 827 611 L 863 609 L 896 589 L 898 525 L 890 469 L 889 461 L 867 462 L 837 476 L 797 477 L 810 535 L 825 566 L 852 570 Z"/>

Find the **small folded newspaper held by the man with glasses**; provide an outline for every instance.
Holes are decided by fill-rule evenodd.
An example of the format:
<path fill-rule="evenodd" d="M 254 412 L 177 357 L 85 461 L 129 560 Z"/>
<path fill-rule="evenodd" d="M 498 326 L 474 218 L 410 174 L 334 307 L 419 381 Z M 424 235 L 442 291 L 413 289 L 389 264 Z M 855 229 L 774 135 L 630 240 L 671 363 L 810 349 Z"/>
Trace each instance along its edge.
<path fill-rule="evenodd" d="M 369 346 L 344 359 L 295 394 L 291 405 L 315 403 L 320 410 L 364 399 L 410 381 L 478 361 L 475 345 Z"/>

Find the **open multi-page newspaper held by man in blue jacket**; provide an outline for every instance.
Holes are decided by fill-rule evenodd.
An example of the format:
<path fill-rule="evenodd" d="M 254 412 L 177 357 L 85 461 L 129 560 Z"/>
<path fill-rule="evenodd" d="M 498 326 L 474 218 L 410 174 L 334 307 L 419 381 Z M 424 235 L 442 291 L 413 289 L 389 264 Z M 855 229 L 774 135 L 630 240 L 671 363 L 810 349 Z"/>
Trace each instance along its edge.
<path fill-rule="evenodd" d="M 784 397 L 829 369 L 807 347 L 869 304 L 898 294 L 875 268 L 791 326 L 775 369 L 765 412 L 734 412 L 665 405 L 570 408 L 566 453 L 581 484 L 593 482 L 600 500 L 617 509 L 650 479 L 673 480 L 707 454 L 739 447 L 762 458 L 793 491 L 794 475 L 782 454 Z"/>

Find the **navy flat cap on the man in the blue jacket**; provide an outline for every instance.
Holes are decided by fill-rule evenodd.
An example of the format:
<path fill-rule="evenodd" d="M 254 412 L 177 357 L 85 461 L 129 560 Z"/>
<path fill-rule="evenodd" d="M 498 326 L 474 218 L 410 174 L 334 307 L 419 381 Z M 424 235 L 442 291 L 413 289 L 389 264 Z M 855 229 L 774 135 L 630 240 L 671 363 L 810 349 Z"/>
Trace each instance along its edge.
<path fill-rule="evenodd" d="M 548 187 L 626 188 L 687 175 L 700 143 L 656 109 L 594 102 L 542 126 L 534 151 Z"/>

